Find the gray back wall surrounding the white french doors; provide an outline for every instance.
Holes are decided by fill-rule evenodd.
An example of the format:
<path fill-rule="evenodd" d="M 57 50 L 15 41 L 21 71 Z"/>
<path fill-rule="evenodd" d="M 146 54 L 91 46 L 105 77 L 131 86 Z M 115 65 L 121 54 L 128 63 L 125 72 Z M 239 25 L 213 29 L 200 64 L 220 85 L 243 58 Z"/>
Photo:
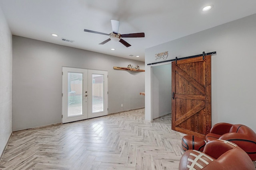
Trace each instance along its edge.
<path fill-rule="evenodd" d="M 144 62 L 13 36 L 13 131 L 61 122 L 62 66 L 108 71 L 108 113 L 144 107 Z M 123 104 L 124 107 L 121 107 Z"/>

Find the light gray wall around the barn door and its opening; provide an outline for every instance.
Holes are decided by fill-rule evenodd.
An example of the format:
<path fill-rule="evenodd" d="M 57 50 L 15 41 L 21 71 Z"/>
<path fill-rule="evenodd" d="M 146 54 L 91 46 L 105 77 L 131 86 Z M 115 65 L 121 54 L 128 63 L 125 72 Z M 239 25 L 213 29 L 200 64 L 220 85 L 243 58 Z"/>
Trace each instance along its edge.
<path fill-rule="evenodd" d="M 256 131 L 256 14 L 225 23 L 156 47 L 146 49 L 145 92 L 152 93 L 152 70 L 157 53 L 168 51 L 166 60 L 216 51 L 212 56 L 212 125 L 242 123 Z M 154 96 L 145 100 L 151 120 Z"/>

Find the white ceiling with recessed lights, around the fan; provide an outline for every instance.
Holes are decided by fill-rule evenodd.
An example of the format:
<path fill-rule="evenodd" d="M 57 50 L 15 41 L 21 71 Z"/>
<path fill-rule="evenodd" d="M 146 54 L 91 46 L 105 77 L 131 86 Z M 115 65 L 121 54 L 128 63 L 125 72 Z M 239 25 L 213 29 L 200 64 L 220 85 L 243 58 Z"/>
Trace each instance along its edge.
<path fill-rule="evenodd" d="M 203 12 L 206 5 L 213 8 Z M 138 61 L 149 47 L 256 13 L 256 0 L 0 0 L 0 6 L 13 35 Z M 110 19 L 120 21 L 119 33 L 145 37 L 123 38 L 131 47 L 98 45 L 109 37 L 84 32 L 112 32 Z"/>

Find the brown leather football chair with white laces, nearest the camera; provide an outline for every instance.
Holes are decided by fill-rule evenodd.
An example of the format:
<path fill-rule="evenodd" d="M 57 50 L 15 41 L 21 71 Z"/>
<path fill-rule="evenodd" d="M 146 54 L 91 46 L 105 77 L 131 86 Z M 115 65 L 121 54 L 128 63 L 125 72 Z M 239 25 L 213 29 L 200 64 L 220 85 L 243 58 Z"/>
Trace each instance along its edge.
<path fill-rule="evenodd" d="M 236 144 L 214 140 L 206 143 L 204 151 L 186 150 L 179 170 L 255 170 L 248 154 Z"/>

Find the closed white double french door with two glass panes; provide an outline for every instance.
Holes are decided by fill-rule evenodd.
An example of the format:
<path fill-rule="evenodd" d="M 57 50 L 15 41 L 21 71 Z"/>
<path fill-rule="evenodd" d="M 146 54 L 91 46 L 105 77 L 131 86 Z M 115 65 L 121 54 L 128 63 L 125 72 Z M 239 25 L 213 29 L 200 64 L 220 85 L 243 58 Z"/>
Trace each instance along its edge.
<path fill-rule="evenodd" d="M 62 123 L 108 114 L 108 72 L 62 67 Z"/>

